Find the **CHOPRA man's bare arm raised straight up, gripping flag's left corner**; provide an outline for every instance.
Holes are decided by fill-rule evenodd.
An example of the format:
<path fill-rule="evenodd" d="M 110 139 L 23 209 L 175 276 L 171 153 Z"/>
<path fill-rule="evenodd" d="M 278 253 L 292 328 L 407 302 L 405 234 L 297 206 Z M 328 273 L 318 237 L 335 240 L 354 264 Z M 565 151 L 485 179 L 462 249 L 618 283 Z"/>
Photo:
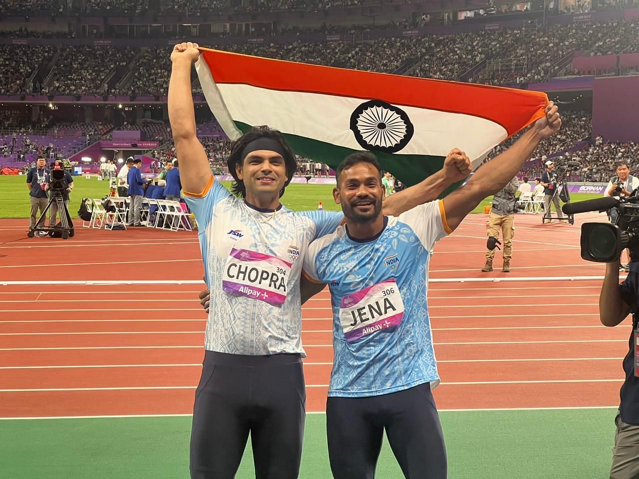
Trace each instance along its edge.
<path fill-rule="evenodd" d="M 200 194 L 212 172 L 202 144 L 197 139 L 196 116 L 191 92 L 191 67 L 199 57 L 197 43 L 180 43 L 171 53 L 169 121 L 180 160 L 180 179 L 185 192 Z"/>

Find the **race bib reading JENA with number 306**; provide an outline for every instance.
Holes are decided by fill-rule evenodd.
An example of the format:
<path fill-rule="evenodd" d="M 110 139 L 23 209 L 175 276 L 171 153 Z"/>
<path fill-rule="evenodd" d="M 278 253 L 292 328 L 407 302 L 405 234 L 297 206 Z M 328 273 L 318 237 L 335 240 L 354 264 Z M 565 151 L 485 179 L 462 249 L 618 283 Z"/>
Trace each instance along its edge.
<path fill-rule="evenodd" d="M 394 278 L 344 296 L 339 305 L 339 321 L 348 342 L 377 331 L 390 333 L 403 316 L 404 303 Z"/>

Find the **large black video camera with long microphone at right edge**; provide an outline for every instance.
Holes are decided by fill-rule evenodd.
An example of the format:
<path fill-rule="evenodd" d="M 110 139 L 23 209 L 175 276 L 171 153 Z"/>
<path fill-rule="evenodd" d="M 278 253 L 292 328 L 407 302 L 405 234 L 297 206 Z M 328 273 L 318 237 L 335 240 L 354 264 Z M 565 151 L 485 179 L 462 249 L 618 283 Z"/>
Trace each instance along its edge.
<path fill-rule="evenodd" d="M 581 225 L 581 257 L 586 261 L 617 261 L 626 248 L 639 247 L 639 188 L 629 197 L 603 197 L 564 204 L 567 214 L 610 211 L 619 215 L 614 223 L 589 222 Z"/>

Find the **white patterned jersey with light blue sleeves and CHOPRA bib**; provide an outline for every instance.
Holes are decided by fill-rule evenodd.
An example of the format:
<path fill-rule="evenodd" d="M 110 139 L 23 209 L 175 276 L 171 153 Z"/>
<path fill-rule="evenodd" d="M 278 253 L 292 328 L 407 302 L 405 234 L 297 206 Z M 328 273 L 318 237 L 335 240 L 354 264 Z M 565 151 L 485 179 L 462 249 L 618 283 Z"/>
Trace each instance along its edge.
<path fill-rule="evenodd" d="M 185 193 L 198 225 L 211 310 L 204 347 L 231 354 L 300 353 L 300 274 L 314 238 L 341 222 L 342 213 L 264 213 L 219 181 L 199 197 Z"/>

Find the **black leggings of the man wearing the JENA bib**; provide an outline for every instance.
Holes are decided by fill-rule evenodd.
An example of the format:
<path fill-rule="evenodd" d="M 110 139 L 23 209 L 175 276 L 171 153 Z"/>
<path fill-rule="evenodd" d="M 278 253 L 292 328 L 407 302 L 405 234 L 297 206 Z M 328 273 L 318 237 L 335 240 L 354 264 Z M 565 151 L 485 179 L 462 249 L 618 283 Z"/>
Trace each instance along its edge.
<path fill-rule="evenodd" d="M 445 479 L 446 446 L 429 383 L 372 397 L 329 397 L 328 457 L 335 479 L 373 479 L 383 431 L 407 479 Z"/>

